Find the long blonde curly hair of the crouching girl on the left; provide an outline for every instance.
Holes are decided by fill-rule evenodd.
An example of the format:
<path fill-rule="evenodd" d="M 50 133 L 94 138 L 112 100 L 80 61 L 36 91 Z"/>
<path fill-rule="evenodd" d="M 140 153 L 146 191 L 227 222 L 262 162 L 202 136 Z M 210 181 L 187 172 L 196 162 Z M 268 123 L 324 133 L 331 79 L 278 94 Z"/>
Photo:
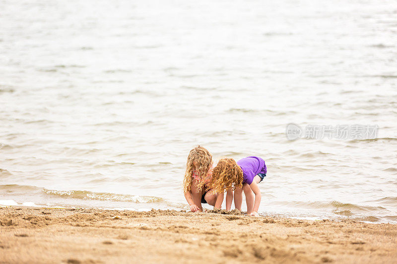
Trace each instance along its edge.
<path fill-rule="evenodd" d="M 192 191 L 192 182 L 194 174 L 199 176 L 198 189 L 202 190 L 208 179 L 208 171 L 212 167 L 212 155 L 209 151 L 200 145 L 189 152 L 188 161 L 186 162 L 185 177 L 183 180 L 184 193 Z"/>

